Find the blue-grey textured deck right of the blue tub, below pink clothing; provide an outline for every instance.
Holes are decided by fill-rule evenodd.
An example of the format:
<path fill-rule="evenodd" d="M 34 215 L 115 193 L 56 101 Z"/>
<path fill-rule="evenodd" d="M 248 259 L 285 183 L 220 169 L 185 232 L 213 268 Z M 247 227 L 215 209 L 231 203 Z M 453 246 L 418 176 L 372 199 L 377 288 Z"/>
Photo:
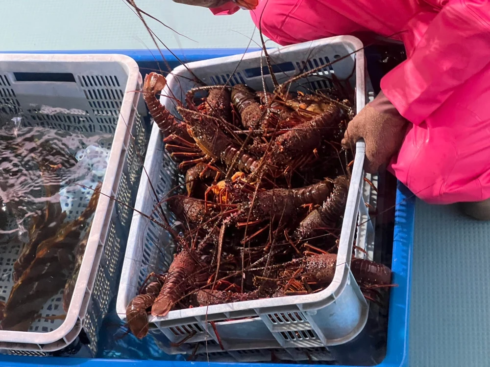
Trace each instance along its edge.
<path fill-rule="evenodd" d="M 490 365 L 490 223 L 417 201 L 411 366 Z"/>

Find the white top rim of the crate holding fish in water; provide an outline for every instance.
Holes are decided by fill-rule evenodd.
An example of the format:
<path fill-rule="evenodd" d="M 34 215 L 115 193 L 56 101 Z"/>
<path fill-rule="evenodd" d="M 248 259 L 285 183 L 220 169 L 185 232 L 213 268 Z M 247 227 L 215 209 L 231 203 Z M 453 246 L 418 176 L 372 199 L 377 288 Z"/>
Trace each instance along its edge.
<path fill-rule="evenodd" d="M 111 199 L 108 196 L 112 195 L 112 191 L 115 184 L 115 178 L 119 165 L 121 163 L 122 152 L 124 148 L 124 140 L 127 131 L 127 124 L 129 121 L 125 121 L 123 115 L 129 116 L 131 109 L 135 103 L 135 98 L 138 97 L 138 93 L 134 90 L 133 86 L 137 86 L 138 82 L 141 84 L 142 78 L 139 72 L 139 67 L 136 61 L 131 57 L 123 54 L 33 54 L 33 53 L 0 53 L 0 63 L 2 62 L 110 62 L 118 63 L 127 72 L 127 82 L 124 88 L 124 96 L 121 103 L 121 109 L 119 111 L 118 123 L 114 132 L 113 145 L 111 147 L 111 154 L 107 165 L 107 170 L 104 175 L 102 187 L 100 189 L 100 195 L 96 211 L 94 213 L 94 220 L 90 230 L 89 239 L 87 241 L 87 247 L 82 259 L 79 274 L 88 274 L 85 277 L 78 277 L 73 291 L 72 301 L 67 312 L 67 316 L 63 323 L 53 331 L 47 333 L 30 332 L 30 331 L 13 331 L 13 330 L 0 330 L 0 341 L 4 343 L 27 343 L 27 344 L 39 344 L 48 345 L 55 343 L 58 340 L 65 339 L 71 330 L 75 327 L 76 321 L 80 317 L 82 311 L 83 300 L 86 297 L 90 297 L 92 291 L 88 296 L 85 296 L 87 286 L 91 280 L 91 274 L 95 267 L 95 258 L 97 255 L 98 247 L 100 246 L 100 237 L 102 233 L 104 237 L 107 234 L 109 222 L 107 214 L 109 206 L 111 205 Z M 137 72 L 134 72 L 137 70 Z M 131 88 L 133 87 L 133 88 Z M 117 154 L 115 153 L 117 152 Z M 125 152 L 125 151 L 124 151 Z M 124 153 L 125 154 L 125 153 Z M 98 217 L 103 220 L 96 221 Z M 105 242 L 105 238 L 104 238 Z M 102 244 L 103 247 L 103 244 Z M 96 270 L 98 269 L 98 265 Z M 86 305 L 85 305 L 86 307 Z M 84 311 L 85 313 L 85 311 Z M 81 325 L 80 325 L 81 326 Z M 76 335 L 75 335 L 76 336 Z M 68 338 L 73 340 L 73 336 Z M 55 348 L 54 350 L 59 349 Z M 30 349 L 29 349 L 30 350 Z M 43 350 L 40 350 L 43 351 Z"/>

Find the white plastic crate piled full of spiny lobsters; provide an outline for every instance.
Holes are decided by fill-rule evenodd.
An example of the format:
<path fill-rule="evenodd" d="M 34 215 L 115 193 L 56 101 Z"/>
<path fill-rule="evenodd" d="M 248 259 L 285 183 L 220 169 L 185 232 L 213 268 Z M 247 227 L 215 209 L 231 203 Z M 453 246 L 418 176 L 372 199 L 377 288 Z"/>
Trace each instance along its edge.
<path fill-rule="evenodd" d="M 292 90 L 300 90 L 300 84 L 305 82 L 313 89 L 332 87 L 324 76 L 333 73 L 341 80 L 349 78 L 351 86 L 355 88 L 356 110 L 360 111 L 367 101 L 362 47 L 357 38 L 340 36 L 270 50 L 270 57 L 273 63 L 278 65 L 277 69 L 285 71 L 275 74 L 281 83 L 301 70 L 314 69 L 351 54 L 321 69 L 317 75 L 313 74 L 298 81 Z M 261 64 L 261 56 L 262 53 L 259 51 L 247 53 L 245 56 L 190 63 L 187 67 L 208 85 L 222 84 L 230 79 L 230 74 L 234 72 L 230 79 L 232 85 L 245 83 L 261 90 L 261 66 L 266 69 L 265 58 L 262 57 Z M 172 99 L 165 96 L 174 95 L 183 100 L 185 93 L 196 84 L 184 67 L 174 69 L 167 80 L 168 85 L 162 93 L 161 102 L 175 114 Z M 271 90 L 269 75 L 265 76 L 265 82 Z M 325 290 L 304 296 L 174 310 L 165 317 L 150 317 L 150 333 L 161 342 L 165 351 L 193 353 L 196 343 L 207 342 L 208 352 L 223 355 L 209 321 L 216 322 L 224 349 L 230 353 L 263 348 L 325 347 L 343 344 L 355 338 L 363 329 L 368 317 L 368 304 L 349 270 L 358 218 L 359 223 L 363 225 L 357 231 L 357 246 L 365 246 L 367 237 L 369 241 L 373 240 L 371 223 L 361 219 L 368 215 L 363 200 L 364 189 L 367 190 L 367 198 L 369 197 L 369 188 L 365 187 L 363 182 L 364 158 L 365 144 L 358 142 L 341 232 L 337 269 L 333 282 Z M 148 177 L 142 177 L 135 207 L 145 214 L 153 213 L 153 218 L 159 220 L 153 208 L 159 199 L 174 187 L 178 172 L 164 149 L 162 135 L 155 124 L 151 132 L 145 167 Z M 148 181 L 155 187 L 158 198 L 154 197 Z M 358 215 L 360 210 L 361 215 Z M 136 296 L 147 274 L 151 271 L 162 273 L 168 269 L 173 251 L 174 244 L 168 233 L 140 214 L 133 214 L 117 300 L 117 312 L 123 320 L 128 302 Z M 170 346 L 169 342 L 178 343 L 190 334 L 193 336 L 185 343 Z M 236 355 L 240 354 L 234 355 L 236 358 Z M 214 360 L 214 357 L 210 359 Z"/>

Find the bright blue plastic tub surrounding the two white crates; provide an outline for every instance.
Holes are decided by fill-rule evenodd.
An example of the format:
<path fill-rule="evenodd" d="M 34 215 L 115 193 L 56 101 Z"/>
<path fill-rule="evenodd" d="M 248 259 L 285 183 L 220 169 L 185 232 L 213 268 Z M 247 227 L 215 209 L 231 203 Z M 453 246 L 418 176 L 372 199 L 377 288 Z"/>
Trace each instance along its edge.
<path fill-rule="evenodd" d="M 255 51 L 256 49 L 249 49 Z M 245 52 L 244 49 L 206 49 L 180 50 L 179 59 L 186 62 L 197 61 Z M 119 53 L 136 60 L 144 76 L 149 71 L 164 69 L 162 57 L 156 50 L 91 50 L 91 51 L 29 51 L 27 53 Z M 180 65 L 176 57 L 168 51 L 164 56 L 173 68 Z M 380 367 L 408 366 L 408 331 L 410 317 L 410 287 L 412 271 L 412 248 L 414 242 L 415 197 L 403 185 L 398 183 L 396 192 L 395 226 L 392 253 L 392 282 L 397 287 L 390 291 L 390 310 L 388 320 L 387 353 Z M 29 357 L 0 355 L 0 366 L 31 367 L 31 366 L 84 366 L 84 367 L 116 367 L 116 366 L 169 366 L 169 367 L 236 367 L 236 363 L 205 363 L 179 361 L 147 361 L 147 360 L 116 360 L 116 359 L 82 359 L 59 357 Z M 243 364 L 246 366 L 265 367 L 266 364 Z M 272 364 L 267 364 L 271 366 Z M 289 365 L 292 367 L 310 365 Z"/>

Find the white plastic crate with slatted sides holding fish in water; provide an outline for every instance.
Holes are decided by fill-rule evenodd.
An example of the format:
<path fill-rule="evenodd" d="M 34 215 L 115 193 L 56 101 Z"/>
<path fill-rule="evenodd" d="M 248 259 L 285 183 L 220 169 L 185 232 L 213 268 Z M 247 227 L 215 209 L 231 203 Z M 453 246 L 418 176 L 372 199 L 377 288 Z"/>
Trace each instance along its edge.
<path fill-rule="evenodd" d="M 123 55 L 0 54 L 2 112 L 21 114 L 24 126 L 112 134 L 112 142 L 104 146 L 110 149 L 110 155 L 101 192 L 128 205 L 132 204 L 131 192 L 135 191 L 135 178 L 141 169 L 129 134 L 136 137 L 136 144 L 144 141 L 137 113 L 140 93 L 136 91 L 141 84 L 136 62 Z M 78 194 L 92 195 L 90 190 L 85 191 Z M 86 200 L 82 202 L 79 210 L 87 205 Z M 68 218 L 76 216 L 70 211 Z M 126 206 L 115 206 L 114 200 L 100 195 L 66 318 L 44 318 L 65 314 L 61 291 L 43 306 L 41 319 L 29 331 L 1 330 L 0 349 L 46 355 L 71 344 L 83 328 L 95 353 L 98 327 L 117 289 L 117 270 L 125 245 L 122 239 L 128 233 L 129 217 Z M 5 291 L 1 294 L 3 301 L 13 285 L 12 266 L 19 251 L 20 246 L 11 244 L 0 247 L 1 274 L 10 274 L 0 278 L 0 288 Z"/>

